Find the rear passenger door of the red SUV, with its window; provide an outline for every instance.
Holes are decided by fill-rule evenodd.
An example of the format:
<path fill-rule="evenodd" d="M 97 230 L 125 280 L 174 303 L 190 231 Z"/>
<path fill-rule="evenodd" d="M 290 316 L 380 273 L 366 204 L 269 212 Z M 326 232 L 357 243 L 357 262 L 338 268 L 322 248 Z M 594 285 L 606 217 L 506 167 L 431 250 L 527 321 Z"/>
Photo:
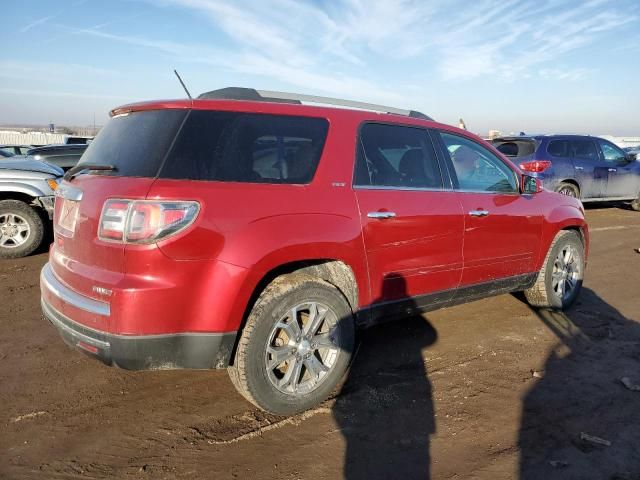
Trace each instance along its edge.
<path fill-rule="evenodd" d="M 462 273 L 463 218 L 427 130 L 365 123 L 354 175 L 373 304 L 438 304 Z"/>

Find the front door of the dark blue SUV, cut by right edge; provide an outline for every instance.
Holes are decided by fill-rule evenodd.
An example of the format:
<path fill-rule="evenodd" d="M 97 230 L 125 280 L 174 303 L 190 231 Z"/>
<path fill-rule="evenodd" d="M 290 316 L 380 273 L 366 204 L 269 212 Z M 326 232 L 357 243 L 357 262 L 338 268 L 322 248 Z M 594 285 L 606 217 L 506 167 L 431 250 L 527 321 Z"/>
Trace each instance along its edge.
<path fill-rule="evenodd" d="M 607 197 L 635 199 L 640 191 L 640 172 L 637 162 L 629 161 L 627 155 L 613 143 L 598 139 L 600 154 L 607 163 Z"/>

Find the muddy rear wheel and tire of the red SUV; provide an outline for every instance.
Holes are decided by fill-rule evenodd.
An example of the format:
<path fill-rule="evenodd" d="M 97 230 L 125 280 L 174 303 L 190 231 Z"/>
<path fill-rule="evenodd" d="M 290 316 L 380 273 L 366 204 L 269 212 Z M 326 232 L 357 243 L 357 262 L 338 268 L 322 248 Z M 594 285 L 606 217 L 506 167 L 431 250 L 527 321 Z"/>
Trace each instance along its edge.
<path fill-rule="evenodd" d="M 307 342 L 306 347 L 301 350 L 305 339 L 319 337 L 303 336 L 302 340 L 298 338 L 296 343 L 296 339 L 290 339 L 286 335 L 288 329 L 285 332 L 278 328 L 283 324 L 291 324 L 291 319 L 294 318 L 291 312 L 308 302 L 311 302 L 310 305 L 319 305 L 321 309 L 327 308 L 328 313 L 322 317 L 326 320 L 322 320 L 319 328 L 329 329 L 333 325 L 330 333 L 324 333 L 327 334 L 327 338 L 332 338 L 335 348 L 310 350 L 309 345 L 315 348 L 315 344 Z M 295 319 L 304 335 L 306 322 L 312 317 L 310 313 L 304 317 L 304 311 L 300 312 L 300 317 L 296 313 Z M 285 332 L 286 339 L 274 337 L 277 332 L 281 332 L 281 336 L 282 332 Z M 238 342 L 234 363 L 228 369 L 229 376 L 237 390 L 260 409 L 275 415 L 293 415 L 323 402 L 341 384 L 351 361 L 354 344 L 353 313 L 338 289 L 310 275 L 284 275 L 269 284 L 253 306 Z M 291 348 L 291 352 L 296 353 L 294 355 L 285 352 L 284 355 L 289 355 L 290 360 L 277 364 L 278 368 L 274 368 L 268 366 L 270 359 L 272 362 L 276 361 L 274 356 L 267 353 L 268 346 Z M 326 360 L 329 357 L 332 363 Z M 328 368 L 327 371 L 312 376 L 313 372 L 307 368 L 308 363 L 305 362 L 315 362 L 314 359 L 319 359 L 323 368 Z M 299 385 L 296 383 L 299 388 L 303 385 L 307 389 L 311 388 L 309 385 L 315 382 L 313 389 L 306 392 L 302 389 L 300 392 L 286 392 L 284 389 L 295 386 L 276 386 L 278 382 L 286 383 L 288 370 L 297 372 L 294 367 L 298 365 L 300 372 L 297 376 L 292 374 L 290 377 L 296 378 L 296 382 L 300 380 Z M 330 368 L 326 365 L 330 365 Z M 282 374 L 281 378 L 278 377 L 278 373 Z M 303 382 L 305 378 L 307 383 Z"/>

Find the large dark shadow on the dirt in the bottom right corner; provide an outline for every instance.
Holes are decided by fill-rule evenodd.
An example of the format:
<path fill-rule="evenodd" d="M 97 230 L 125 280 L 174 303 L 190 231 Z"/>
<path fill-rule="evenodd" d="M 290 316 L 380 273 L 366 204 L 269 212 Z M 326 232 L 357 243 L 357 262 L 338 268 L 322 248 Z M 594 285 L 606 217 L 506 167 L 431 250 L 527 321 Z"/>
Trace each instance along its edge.
<path fill-rule="evenodd" d="M 588 288 L 533 311 L 559 342 L 523 399 L 520 479 L 640 478 L 640 391 L 621 381 L 640 384 L 640 323 Z"/>

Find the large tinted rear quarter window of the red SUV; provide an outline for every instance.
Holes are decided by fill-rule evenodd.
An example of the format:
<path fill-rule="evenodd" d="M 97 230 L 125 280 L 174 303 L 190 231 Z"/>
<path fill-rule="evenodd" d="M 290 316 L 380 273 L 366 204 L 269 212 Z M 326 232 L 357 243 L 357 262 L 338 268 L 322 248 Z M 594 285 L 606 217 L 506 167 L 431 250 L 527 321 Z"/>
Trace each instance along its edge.
<path fill-rule="evenodd" d="M 161 178 L 309 183 L 327 136 L 326 119 L 194 110 Z"/>

